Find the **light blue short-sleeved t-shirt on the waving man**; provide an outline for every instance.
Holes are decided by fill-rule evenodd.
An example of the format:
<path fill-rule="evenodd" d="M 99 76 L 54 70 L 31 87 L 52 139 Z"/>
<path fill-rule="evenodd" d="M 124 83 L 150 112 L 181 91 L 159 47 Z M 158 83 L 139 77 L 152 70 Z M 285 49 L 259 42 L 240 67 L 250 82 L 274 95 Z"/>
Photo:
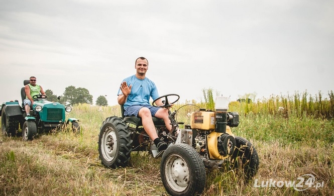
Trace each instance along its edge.
<path fill-rule="evenodd" d="M 128 95 L 128 99 L 124 104 L 124 108 L 134 105 L 150 105 L 150 97 L 153 100 L 159 97 L 158 89 L 155 83 L 149 78 L 138 79 L 136 75 L 125 78 L 128 86 L 132 84 L 131 92 Z M 118 94 L 123 94 L 122 90 L 119 88 Z"/>

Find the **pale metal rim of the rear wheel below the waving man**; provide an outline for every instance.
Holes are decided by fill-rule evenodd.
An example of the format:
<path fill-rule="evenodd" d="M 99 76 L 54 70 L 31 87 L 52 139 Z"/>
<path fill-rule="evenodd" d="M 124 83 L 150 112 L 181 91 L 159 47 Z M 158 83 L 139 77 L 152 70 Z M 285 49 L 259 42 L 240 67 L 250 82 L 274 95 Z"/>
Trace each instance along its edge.
<path fill-rule="evenodd" d="M 114 129 L 107 127 L 102 138 L 102 154 L 106 161 L 112 161 L 117 154 L 117 135 Z"/>

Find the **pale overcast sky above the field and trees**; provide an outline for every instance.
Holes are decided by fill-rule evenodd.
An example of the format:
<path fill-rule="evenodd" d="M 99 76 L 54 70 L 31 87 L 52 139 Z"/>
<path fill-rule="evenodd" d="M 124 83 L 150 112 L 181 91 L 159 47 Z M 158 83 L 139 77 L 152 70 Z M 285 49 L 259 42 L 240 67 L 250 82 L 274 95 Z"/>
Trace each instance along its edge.
<path fill-rule="evenodd" d="M 334 90 L 334 1 L 0 0 L 0 102 L 23 80 L 67 86 L 117 105 L 135 59 L 160 95 L 203 100 L 202 89 L 257 99 Z M 214 94 L 215 95 L 215 94 Z"/>

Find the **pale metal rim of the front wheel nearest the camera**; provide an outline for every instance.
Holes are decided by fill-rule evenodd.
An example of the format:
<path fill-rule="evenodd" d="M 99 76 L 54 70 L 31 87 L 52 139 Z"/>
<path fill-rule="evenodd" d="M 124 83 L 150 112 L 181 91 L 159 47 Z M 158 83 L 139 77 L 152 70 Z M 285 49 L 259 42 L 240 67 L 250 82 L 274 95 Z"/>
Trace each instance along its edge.
<path fill-rule="evenodd" d="M 181 192 L 189 185 L 189 167 L 179 155 L 168 157 L 165 167 L 165 176 L 173 190 Z"/>

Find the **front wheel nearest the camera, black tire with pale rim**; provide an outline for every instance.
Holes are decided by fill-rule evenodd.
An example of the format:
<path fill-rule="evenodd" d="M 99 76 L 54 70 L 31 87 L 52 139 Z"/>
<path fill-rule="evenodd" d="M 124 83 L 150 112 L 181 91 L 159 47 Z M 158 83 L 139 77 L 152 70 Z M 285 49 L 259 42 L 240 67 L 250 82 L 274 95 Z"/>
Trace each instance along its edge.
<path fill-rule="evenodd" d="M 187 144 L 166 149 L 160 162 L 162 183 L 171 195 L 200 194 L 205 185 L 205 167 L 199 154 Z"/>

